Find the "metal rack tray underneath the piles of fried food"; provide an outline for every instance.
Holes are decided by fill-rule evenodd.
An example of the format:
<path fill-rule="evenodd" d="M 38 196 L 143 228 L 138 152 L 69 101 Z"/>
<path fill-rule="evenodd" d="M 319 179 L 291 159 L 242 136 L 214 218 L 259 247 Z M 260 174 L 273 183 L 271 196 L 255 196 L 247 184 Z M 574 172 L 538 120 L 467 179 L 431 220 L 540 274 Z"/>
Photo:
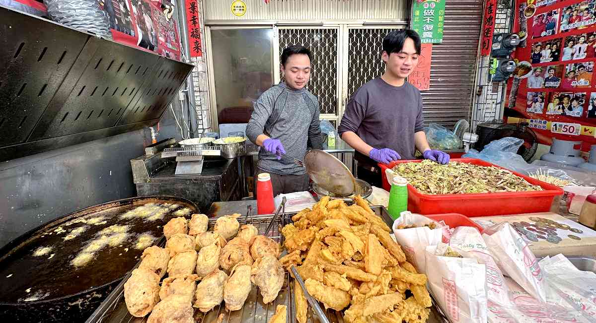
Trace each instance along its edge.
<path fill-rule="evenodd" d="M 382 206 L 374 206 L 372 207 L 377 215 L 381 216 L 387 222 L 389 227 L 392 226 L 393 220 L 390 218 L 387 210 Z M 239 212 L 241 210 L 238 210 Z M 283 243 L 283 235 L 280 234 L 281 228 L 288 223 L 291 222 L 291 216 L 295 215 L 296 213 L 284 213 L 283 216 L 278 218 L 273 226 L 271 232 L 269 232 L 268 237 L 272 238 L 279 243 Z M 260 216 L 253 216 L 252 223 L 256 228 L 259 230 L 259 234 L 263 234 L 265 232 L 265 228 L 267 227 L 269 221 L 272 219 L 273 215 L 260 215 Z M 238 221 L 241 225 L 246 221 L 244 216 L 238 218 Z M 250 223 L 250 219 L 249 219 Z M 209 230 L 213 229 L 213 225 L 215 224 L 215 219 L 209 220 Z M 283 252 L 285 254 L 285 250 Z M 147 322 L 147 316 L 144 318 L 135 318 L 134 316 L 128 313 L 128 309 L 126 309 L 126 304 L 124 302 L 124 283 L 128 279 L 129 275 L 125 277 L 122 282 L 114 289 L 114 291 L 104 300 L 104 302 L 100 305 L 97 310 L 87 319 L 86 323 L 144 323 Z M 225 305 L 222 302 L 217 308 L 211 310 L 207 313 L 202 313 L 198 309 L 195 310 L 194 319 L 198 323 L 212 323 L 215 321 L 216 318 L 221 313 L 224 313 L 224 321 L 222 323 L 267 323 L 271 316 L 275 313 L 275 308 L 277 305 L 285 305 L 290 309 L 290 315 L 288 317 L 288 322 L 293 323 L 296 321 L 296 310 L 294 309 L 294 284 L 293 279 L 290 277 L 290 274 L 286 273 L 286 278 L 283 287 L 281 288 L 280 294 L 278 294 L 277 299 L 274 302 L 269 304 L 263 304 L 262 296 L 260 296 L 259 290 L 256 285 L 253 285 L 252 290 L 250 291 L 249 297 L 244 303 L 244 306 L 240 310 L 235 310 L 229 312 L 225 309 Z M 436 302 L 433 303 L 436 304 Z M 333 309 L 325 310 L 327 313 L 327 318 L 331 323 L 343 323 L 342 313 L 337 312 Z M 438 306 L 434 305 L 431 308 L 430 317 L 427 321 L 428 323 L 446 323 L 449 322 L 446 316 L 442 314 Z M 312 312 L 312 309 L 309 307 L 309 312 L 307 314 L 307 323 L 319 323 L 319 319 L 316 318 L 316 315 Z"/>

